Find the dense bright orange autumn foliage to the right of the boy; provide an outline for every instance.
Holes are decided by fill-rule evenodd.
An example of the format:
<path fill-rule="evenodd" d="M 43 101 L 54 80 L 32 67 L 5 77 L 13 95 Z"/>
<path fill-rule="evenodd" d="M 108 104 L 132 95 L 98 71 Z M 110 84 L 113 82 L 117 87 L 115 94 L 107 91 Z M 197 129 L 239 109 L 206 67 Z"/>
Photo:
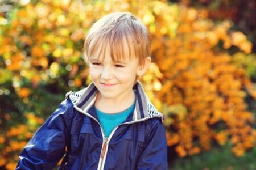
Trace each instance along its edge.
<path fill-rule="evenodd" d="M 171 8 L 164 7 L 164 11 L 171 11 Z M 152 34 L 152 55 L 164 75 L 162 90 L 156 93 L 156 97 L 169 106 L 181 103 L 189 112 L 180 120 L 176 116 L 182 114 L 179 109 L 173 111 L 168 107 L 163 110 L 172 119 L 167 124 L 170 127 L 168 143 L 178 145 L 176 151 L 182 157 L 189 154 L 194 145 L 201 150 L 209 150 L 214 139 L 224 145 L 228 138 L 236 135 L 233 131 L 236 129 L 242 145 L 233 142 L 232 151 L 242 156 L 245 150 L 254 146 L 256 139 L 255 129 L 250 126 L 254 123 L 254 116 L 246 111 L 244 101 L 246 92 L 243 89 L 250 81 L 244 70 L 230 62 L 232 56 L 213 50 L 213 47 L 224 41 L 224 48 L 236 45 L 243 52 L 250 53 L 251 43 L 241 32 L 230 33 L 229 22 L 214 25 L 205 18 L 205 11 L 183 7 L 179 12 L 180 18 L 173 21 L 179 25 L 175 37 L 171 37 L 169 32 Z M 167 23 L 161 14 L 155 18 L 156 30 Z M 246 49 L 242 45 L 245 41 L 250 44 Z M 247 90 L 253 96 L 255 88 L 248 84 L 251 91 Z M 221 132 L 213 128 L 221 124 L 224 124 Z M 175 141 L 172 133 L 176 135 L 176 131 L 179 140 Z"/>

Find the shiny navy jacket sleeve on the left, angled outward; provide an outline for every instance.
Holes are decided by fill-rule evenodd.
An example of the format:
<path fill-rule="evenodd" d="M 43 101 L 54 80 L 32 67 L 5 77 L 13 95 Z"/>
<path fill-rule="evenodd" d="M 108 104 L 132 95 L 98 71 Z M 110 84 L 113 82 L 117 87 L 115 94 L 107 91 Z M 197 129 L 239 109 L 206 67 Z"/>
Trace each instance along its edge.
<path fill-rule="evenodd" d="M 68 99 L 59 105 L 24 147 L 16 169 L 52 169 L 56 166 L 65 154 L 72 106 Z"/>

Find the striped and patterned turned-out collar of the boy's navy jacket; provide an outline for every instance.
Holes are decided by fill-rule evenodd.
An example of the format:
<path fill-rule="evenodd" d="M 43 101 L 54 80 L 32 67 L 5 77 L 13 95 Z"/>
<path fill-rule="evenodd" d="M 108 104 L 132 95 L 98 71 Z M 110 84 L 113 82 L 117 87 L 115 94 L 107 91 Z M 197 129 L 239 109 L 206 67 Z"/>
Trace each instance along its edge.
<path fill-rule="evenodd" d="M 143 121 L 148 118 L 159 117 L 162 118 L 162 114 L 156 110 L 154 105 L 148 99 L 146 93 L 143 90 L 141 82 L 137 81 L 133 89 L 137 92 L 137 100 L 135 110 L 133 112 L 133 121 Z M 93 83 L 90 83 L 87 88 L 84 88 L 78 92 L 70 92 L 67 94 L 72 101 L 74 108 L 84 114 L 89 114 L 88 110 L 93 106 L 98 90 Z"/>

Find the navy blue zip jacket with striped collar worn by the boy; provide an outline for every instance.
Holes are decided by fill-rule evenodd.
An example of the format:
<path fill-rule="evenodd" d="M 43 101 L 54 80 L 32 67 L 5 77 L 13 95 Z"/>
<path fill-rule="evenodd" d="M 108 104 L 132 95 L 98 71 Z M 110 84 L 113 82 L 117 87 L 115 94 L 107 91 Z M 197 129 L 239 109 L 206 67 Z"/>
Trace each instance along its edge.
<path fill-rule="evenodd" d="M 162 114 L 141 83 L 133 114 L 104 136 L 96 118 L 97 88 L 68 94 L 24 147 L 16 169 L 168 169 Z"/>

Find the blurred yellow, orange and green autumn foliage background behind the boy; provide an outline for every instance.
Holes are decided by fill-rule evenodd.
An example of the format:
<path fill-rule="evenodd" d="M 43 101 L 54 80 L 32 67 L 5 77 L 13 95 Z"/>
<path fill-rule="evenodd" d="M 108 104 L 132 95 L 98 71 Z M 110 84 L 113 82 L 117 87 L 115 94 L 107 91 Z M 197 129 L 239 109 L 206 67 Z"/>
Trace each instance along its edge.
<path fill-rule="evenodd" d="M 90 26 L 130 11 L 150 32 L 141 78 L 166 116 L 170 169 L 256 169 L 256 1 L 0 1 L 0 169 L 18 155 L 65 93 L 91 79 Z"/>

